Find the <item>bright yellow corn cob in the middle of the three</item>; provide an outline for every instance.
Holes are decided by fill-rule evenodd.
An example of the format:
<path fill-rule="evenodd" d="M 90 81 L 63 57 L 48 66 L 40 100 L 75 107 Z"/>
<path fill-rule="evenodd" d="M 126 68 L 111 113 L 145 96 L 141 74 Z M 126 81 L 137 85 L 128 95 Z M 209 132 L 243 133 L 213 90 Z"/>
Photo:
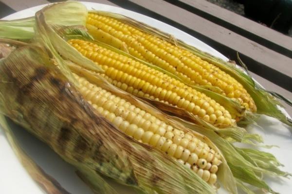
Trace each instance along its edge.
<path fill-rule="evenodd" d="M 167 102 L 216 126 L 235 125 L 215 100 L 158 70 L 91 42 L 70 40 L 69 44 L 100 65 L 105 70 L 103 77 L 128 93 Z"/>

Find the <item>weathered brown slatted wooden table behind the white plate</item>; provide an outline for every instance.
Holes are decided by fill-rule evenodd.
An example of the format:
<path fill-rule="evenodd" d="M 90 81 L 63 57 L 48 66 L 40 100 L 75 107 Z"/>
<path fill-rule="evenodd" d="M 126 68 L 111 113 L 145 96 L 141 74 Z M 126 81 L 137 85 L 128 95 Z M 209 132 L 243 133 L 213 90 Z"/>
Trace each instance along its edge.
<path fill-rule="evenodd" d="M 59 0 L 0 0 L 0 18 Z M 238 52 L 267 90 L 292 99 L 292 38 L 205 0 L 84 0 L 123 7 L 170 24 L 231 60 Z M 284 104 L 284 106 L 286 106 Z M 286 106 L 292 115 L 292 108 Z"/>

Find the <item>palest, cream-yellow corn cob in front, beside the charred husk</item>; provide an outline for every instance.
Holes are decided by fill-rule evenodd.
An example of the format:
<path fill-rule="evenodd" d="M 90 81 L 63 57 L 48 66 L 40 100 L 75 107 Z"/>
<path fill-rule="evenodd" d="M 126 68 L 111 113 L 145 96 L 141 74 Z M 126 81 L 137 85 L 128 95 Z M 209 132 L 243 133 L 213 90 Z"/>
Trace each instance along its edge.
<path fill-rule="evenodd" d="M 157 147 L 214 184 L 221 158 L 194 134 L 184 133 L 105 89 L 74 74 L 80 92 L 92 107 L 137 141 Z"/>

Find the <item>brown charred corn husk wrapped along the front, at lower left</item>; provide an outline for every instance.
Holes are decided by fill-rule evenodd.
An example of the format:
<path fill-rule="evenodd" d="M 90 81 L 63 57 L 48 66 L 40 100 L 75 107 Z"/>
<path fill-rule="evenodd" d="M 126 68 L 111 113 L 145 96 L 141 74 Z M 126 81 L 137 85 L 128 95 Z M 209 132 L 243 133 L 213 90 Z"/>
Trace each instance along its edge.
<path fill-rule="evenodd" d="M 214 193 L 179 162 L 98 115 L 43 49 L 16 49 L 1 61 L 0 74 L 1 111 L 81 172 L 101 173 L 147 194 Z"/>

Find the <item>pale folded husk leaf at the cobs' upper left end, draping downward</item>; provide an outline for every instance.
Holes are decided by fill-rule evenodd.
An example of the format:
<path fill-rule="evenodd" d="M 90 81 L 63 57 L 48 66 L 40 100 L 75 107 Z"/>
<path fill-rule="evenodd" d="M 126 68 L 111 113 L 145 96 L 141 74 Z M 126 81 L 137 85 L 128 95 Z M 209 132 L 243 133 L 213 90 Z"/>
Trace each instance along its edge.
<path fill-rule="evenodd" d="M 62 12 L 60 12 L 60 9 Z M 62 19 L 57 19 L 57 13 L 60 12 Z M 94 64 L 91 60 L 82 56 L 73 47 L 68 47 L 68 43 L 60 36 L 65 33 L 71 32 L 73 35 L 81 33 L 81 28 L 71 30 L 71 27 L 60 28 L 60 25 L 65 24 L 67 21 L 69 24 L 82 25 L 85 24 L 87 16 L 86 7 L 77 1 L 67 1 L 66 3 L 56 3 L 49 5 L 36 13 L 36 41 L 42 42 L 47 49 L 54 55 L 57 64 L 61 72 L 73 83 L 77 84 L 74 80 L 71 71 L 63 61 L 59 59 L 59 54 L 63 58 L 70 59 L 74 63 L 84 66 L 88 69 L 103 72 L 99 65 Z M 52 18 L 53 17 L 53 18 Z M 86 34 L 86 32 L 82 32 Z M 90 35 L 86 36 L 90 37 Z"/>

